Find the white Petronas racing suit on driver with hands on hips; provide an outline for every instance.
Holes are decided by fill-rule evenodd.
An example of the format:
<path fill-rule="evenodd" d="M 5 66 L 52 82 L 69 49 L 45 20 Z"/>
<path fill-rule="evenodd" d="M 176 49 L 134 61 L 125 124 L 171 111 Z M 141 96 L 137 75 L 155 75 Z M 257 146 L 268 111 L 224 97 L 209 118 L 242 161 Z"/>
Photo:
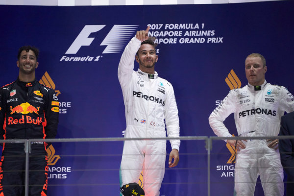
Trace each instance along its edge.
<path fill-rule="evenodd" d="M 265 81 L 261 86 L 248 84 L 234 89 L 212 112 L 209 123 L 219 137 L 232 137 L 223 121 L 234 113 L 239 136 L 277 136 L 284 112 L 294 111 L 294 97 L 285 87 Z M 265 196 L 283 196 L 283 167 L 278 149 L 266 140 L 242 141 L 246 147 L 237 154 L 235 191 L 237 196 L 253 196 L 258 174 Z"/>

